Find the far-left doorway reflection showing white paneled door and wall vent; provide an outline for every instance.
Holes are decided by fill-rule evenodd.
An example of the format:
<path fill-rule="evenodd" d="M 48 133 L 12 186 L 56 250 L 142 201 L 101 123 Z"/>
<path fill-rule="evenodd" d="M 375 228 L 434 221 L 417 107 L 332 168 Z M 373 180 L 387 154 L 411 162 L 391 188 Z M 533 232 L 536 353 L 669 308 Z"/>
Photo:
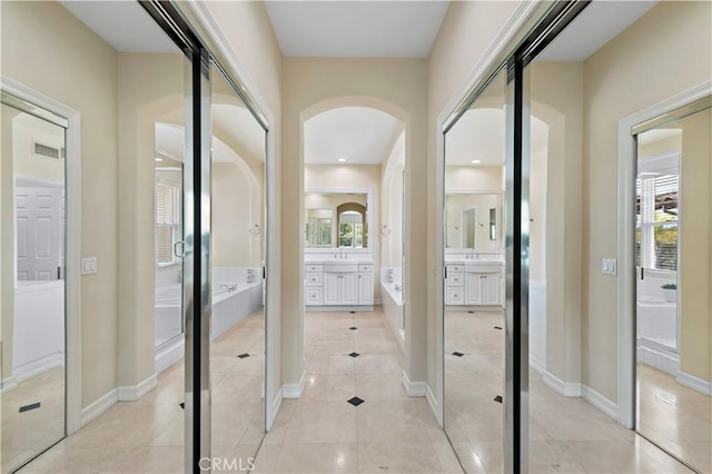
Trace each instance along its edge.
<path fill-rule="evenodd" d="M 65 436 L 65 128 L 1 107 L 1 471 L 10 472 Z"/>

